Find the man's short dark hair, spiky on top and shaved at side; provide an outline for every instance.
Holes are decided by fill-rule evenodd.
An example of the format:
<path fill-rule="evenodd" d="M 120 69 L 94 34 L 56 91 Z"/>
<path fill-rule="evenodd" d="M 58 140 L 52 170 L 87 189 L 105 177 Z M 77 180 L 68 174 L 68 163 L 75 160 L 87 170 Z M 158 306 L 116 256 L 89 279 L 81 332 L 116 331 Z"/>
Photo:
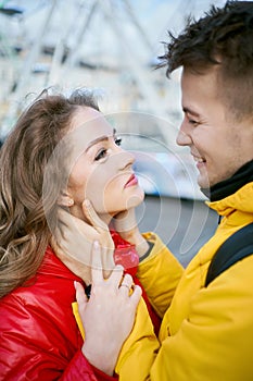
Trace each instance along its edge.
<path fill-rule="evenodd" d="M 253 2 L 227 1 L 212 7 L 204 17 L 189 17 L 178 36 L 169 33 L 166 52 L 160 57 L 166 74 L 184 66 L 201 74 L 218 69 L 218 95 L 236 118 L 253 114 Z"/>

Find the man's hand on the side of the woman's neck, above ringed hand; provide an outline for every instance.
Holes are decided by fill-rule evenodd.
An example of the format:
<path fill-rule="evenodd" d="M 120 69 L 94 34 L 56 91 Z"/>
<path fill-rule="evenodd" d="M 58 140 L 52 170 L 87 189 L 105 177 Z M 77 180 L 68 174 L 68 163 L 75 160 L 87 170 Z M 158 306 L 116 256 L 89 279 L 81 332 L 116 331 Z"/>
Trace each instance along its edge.
<path fill-rule="evenodd" d="M 104 276 L 109 276 L 115 267 L 113 254 L 114 243 L 107 225 L 100 220 L 91 202 L 83 202 L 83 211 L 89 223 L 59 209 L 59 224 L 51 246 L 58 257 L 86 284 L 90 283 L 90 263 L 92 242 L 101 245 L 101 261 Z"/>

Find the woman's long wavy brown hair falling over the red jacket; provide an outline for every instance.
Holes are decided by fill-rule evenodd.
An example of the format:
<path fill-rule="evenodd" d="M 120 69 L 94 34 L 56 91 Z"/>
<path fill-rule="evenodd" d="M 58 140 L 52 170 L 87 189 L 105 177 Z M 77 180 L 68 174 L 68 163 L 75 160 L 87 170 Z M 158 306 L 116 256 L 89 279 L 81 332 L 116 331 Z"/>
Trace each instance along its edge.
<path fill-rule="evenodd" d="M 68 97 L 45 90 L 23 112 L 1 147 L 0 297 L 33 276 L 41 263 L 51 237 L 45 206 L 49 218 L 55 216 L 63 161 L 67 158 L 54 161 L 47 187 L 45 169 L 79 107 L 99 110 L 87 89 L 75 90 Z"/>

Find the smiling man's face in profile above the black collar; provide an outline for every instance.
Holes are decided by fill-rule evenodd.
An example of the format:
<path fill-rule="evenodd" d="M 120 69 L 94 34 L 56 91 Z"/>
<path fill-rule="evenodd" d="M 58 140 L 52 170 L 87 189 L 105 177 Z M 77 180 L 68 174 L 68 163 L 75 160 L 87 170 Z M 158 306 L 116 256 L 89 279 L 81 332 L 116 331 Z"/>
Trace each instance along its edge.
<path fill-rule="evenodd" d="M 177 144 L 189 146 L 198 183 L 208 188 L 253 159 L 253 123 L 237 122 L 229 113 L 219 97 L 215 69 L 202 75 L 185 70 L 181 93 L 185 118 Z"/>

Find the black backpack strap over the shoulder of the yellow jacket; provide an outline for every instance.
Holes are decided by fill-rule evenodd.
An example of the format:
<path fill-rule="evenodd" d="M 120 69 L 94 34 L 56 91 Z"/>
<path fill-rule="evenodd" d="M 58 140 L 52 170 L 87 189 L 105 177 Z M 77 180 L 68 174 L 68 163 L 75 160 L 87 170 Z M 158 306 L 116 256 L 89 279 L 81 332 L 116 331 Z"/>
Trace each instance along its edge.
<path fill-rule="evenodd" d="M 237 261 L 253 254 L 253 223 L 233 233 L 215 253 L 206 275 L 205 286 Z"/>

